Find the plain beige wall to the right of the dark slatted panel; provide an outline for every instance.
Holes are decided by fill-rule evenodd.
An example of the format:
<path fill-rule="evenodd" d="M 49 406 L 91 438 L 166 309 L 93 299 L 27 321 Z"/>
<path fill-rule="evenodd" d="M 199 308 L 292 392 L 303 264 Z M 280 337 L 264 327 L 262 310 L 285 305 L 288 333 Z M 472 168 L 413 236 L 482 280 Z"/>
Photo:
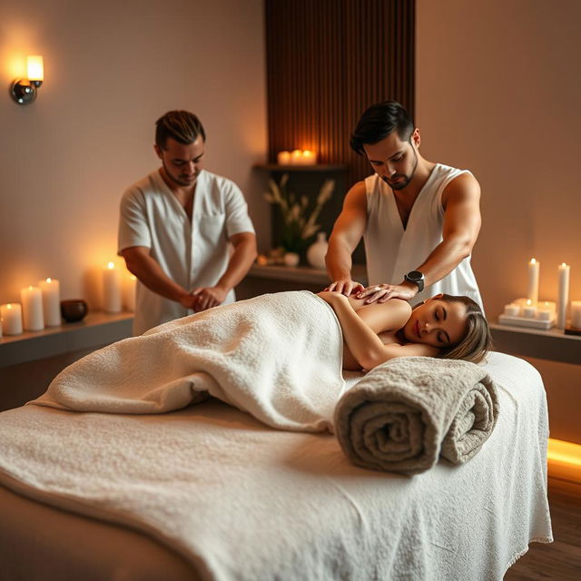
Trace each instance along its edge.
<path fill-rule="evenodd" d="M 422 152 L 471 169 L 482 186 L 473 264 L 487 314 L 525 295 L 531 257 L 541 262 L 539 298 L 556 300 L 565 261 L 571 298 L 581 300 L 581 2 L 417 3 Z M 581 368 L 537 367 L 553 435 L 581 442 Z"/>

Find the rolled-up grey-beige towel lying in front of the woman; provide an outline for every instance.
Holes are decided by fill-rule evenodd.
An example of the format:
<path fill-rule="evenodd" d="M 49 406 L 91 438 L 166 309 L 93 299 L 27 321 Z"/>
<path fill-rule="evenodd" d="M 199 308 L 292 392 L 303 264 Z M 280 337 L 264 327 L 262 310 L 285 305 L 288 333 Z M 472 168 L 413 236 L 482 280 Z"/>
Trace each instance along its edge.
<path fill-rule="evenodd" d="M 441 455 L 466 462 L 497 422 L 484 368 L 456 359 L 402 357 L 372 369 L 340 399 L 335 432 L 353 464 L 418 474 Z"/>

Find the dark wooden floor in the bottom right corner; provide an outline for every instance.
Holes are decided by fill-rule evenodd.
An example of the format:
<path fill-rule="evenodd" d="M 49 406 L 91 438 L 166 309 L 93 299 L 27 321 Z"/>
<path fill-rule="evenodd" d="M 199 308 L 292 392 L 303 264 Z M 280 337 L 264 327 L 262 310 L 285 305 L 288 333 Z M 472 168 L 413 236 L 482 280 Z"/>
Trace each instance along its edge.
<path fill-rule="evenodd" d="M 555 542 L 531 543 L 505 581 L 581 579 L 581 484 L 549 478 L 548 499 Z"/>

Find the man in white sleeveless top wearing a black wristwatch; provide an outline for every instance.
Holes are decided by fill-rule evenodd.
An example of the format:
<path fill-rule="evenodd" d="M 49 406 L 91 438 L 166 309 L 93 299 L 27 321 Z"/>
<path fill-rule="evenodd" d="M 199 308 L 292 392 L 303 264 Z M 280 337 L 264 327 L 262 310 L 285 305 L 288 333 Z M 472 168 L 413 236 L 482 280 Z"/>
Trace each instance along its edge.
<path fill-rule="evenodd" d="M 329 290 L 367 302 L 413 304 L 438 292 L 482 307 L 470 253 L 480 230 L 480 186 L 467 170 L 428 162 L 419 129 L 393 101 L 369 107 L 351 135 L 375 174 L 347 193 L 330 235 Z M 351 254 L 363 237 L 369 287 L 351 279 Z"/>

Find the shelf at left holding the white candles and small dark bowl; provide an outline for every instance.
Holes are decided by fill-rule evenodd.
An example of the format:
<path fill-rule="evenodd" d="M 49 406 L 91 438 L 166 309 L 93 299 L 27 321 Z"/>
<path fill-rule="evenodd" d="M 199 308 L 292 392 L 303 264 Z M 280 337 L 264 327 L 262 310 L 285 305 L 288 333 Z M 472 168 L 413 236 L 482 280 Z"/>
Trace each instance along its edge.
<path fill-rule="evenodd" d="M 63 355 L 76 350 L 97 349 L 113 341 L 131 337 L 133 313 L 94 311 L 84 320 L 4 335 L 0 339 L 0 368 Z"/>

